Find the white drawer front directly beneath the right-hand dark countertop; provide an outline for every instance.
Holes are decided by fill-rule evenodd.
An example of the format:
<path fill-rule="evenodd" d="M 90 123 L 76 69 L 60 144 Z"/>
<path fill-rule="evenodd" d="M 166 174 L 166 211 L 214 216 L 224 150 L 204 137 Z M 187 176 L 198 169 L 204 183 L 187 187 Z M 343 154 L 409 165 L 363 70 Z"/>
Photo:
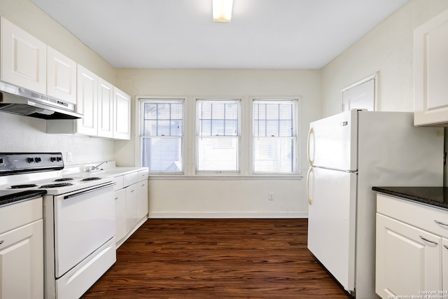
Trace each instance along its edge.
<path fill-rule="evenodd" d="M 448 238 L 448 211 L 387 195 L 377 195 L 377 212 Z"/>

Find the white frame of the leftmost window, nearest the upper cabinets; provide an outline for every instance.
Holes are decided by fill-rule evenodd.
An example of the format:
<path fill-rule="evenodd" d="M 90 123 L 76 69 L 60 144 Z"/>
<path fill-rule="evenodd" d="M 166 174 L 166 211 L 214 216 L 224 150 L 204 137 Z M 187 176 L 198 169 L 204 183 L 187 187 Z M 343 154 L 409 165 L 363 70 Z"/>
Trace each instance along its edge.
<path fill-rule="evenodd" d="M 181 136 L 176 136 L 181 138 L 181 158 L 182 158 L 182 169 L 180 172 L 149 172 L 149 174 L 151 176 L 153 175 L 157 175 L 157 176 L 183 176 L 186 174 L 186 139 L 187 137 L 187 132 L 186 132 L 186 125 L 187 125 L 187 120 L 186 120 L 186 108 L 187 108 L 187 97 L 154 97 L 154 96 L 141 96 L 141 97 L 136 97 L 137 99 L 137 104 L 136 107 L 137 111 L 136 111 L 136 115 L 139 116 L 137 122 L 138 122 L 138 126 L 136 124 L 136 127 L 139 128 L 138 132 L 137 132 L 137 139 L 138 139 L 138 151 L 139 151 L 139 155 L 138 155 L 138 159 L 139 159 L 139 163 L 138 165 L 143 166 L 143 146 L 144 146 L 144 138 L 146 136 L 144 136 L 143 134 L 143 129 L 144 129 L 144 109 L 143 106 L 146 102 L 152 102 L 152 103 L 179 103 L 181 102 L 183 104 L 183 109 L 182 109 L 182 134 Z M 166 137 L 162 137 L 159 136 L 160 138 L 166 138 L 166 139 L 172 139 L 174 137 L 172 136 L 166 136 Z"/>

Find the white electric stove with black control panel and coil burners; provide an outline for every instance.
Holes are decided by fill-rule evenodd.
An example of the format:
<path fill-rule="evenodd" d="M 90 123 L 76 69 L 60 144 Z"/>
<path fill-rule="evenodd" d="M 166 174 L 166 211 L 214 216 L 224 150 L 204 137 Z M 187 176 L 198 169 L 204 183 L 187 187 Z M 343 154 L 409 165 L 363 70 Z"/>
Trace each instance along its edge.
<path fill-rule="evenodd" d="M 0 153 L 0 190 L 45 193 L 46 299 L 80 298 L 116 262 L 114 185 L 62 153 Z"/>

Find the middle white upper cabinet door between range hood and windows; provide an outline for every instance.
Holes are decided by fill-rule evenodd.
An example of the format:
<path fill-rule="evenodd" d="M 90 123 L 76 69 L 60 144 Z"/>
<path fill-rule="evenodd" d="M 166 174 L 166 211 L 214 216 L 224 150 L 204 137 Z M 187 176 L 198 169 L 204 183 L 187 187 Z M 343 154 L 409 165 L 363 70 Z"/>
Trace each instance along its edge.
<path fill-rule="evenodd" d="M 98 136 L 113 137 L 113 85 L 98 78 Z"/>

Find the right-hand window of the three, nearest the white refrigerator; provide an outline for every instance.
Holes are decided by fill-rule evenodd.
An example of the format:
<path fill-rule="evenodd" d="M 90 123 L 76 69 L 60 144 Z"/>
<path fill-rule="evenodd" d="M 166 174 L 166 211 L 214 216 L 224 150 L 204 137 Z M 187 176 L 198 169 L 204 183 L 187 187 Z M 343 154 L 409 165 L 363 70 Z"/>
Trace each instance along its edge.
<path fill-rule="evenodd" d="M 253 100 L 253 173 L 297 173 L 297 99 Z"/>

